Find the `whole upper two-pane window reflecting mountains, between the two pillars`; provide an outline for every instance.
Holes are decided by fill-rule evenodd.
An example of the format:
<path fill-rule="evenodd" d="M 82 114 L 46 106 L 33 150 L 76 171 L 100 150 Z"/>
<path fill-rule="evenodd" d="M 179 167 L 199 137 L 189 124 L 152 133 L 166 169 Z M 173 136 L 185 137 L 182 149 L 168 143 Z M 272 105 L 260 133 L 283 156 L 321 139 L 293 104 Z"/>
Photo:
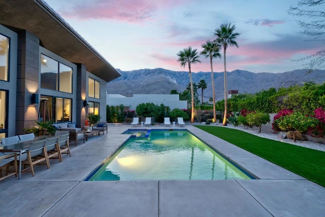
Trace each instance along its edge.
<path fill-rule="evenodd" d="M 72 68 L 41 54 L 41 88 L 72 93 Z"/>

